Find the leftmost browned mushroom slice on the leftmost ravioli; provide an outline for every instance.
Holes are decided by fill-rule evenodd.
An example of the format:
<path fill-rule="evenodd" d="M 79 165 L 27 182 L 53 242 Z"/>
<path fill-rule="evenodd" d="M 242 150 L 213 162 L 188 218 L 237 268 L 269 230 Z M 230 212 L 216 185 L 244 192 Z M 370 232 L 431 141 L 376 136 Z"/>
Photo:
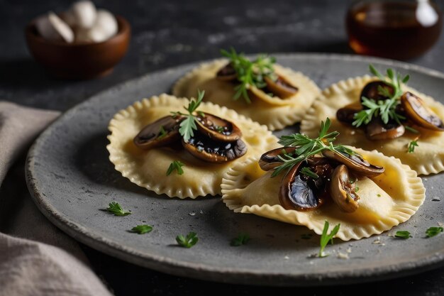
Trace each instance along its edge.
<path fill-rule="evenodd" d="M 165 116 L 145 126 L 134 138 L 139 148 L 150 149 L 166 146 L 180 140 L 179 124 L 182 117 Z"/>

